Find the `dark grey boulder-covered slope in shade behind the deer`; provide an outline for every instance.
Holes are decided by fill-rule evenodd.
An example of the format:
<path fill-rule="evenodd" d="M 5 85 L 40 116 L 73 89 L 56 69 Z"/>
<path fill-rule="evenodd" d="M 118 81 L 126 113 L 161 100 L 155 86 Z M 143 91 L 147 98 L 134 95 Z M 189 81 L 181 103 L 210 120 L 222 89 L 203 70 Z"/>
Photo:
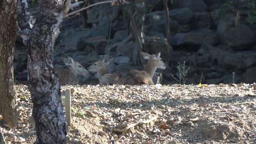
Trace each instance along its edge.
<path fill-rule="evenodd" d="M 256 81 L 256 23 L 252 21 L 256 16 L 251 14 L 252 1 L 168 1 L 170 39 L 166 39 L 162 1 L 144 2 L 136 6 L 145 13 L 142 51 L 162 52 L 167 68 L 155 75 L 163 78 L 161 83 L 179 83 L 173 78 L 179 80 L 179 64 L 179 68 L 188 69 L 187 84 Z M 114 58 L 115 65 L 131 64 L 136 43 L 122 43 L 131 33 L 125 8 L 125 4 L 101 4 L 66 18 L 54 47 L 56 64 L 67 56 L 85 68 L 107 56 Z M 142 16 L 134 17 L 139 25 Z M 19 41 L 15 47 L 15 80 L 26 83 L 26 47 Z M 92 75 L 86 83 L 97 80 Z"/>

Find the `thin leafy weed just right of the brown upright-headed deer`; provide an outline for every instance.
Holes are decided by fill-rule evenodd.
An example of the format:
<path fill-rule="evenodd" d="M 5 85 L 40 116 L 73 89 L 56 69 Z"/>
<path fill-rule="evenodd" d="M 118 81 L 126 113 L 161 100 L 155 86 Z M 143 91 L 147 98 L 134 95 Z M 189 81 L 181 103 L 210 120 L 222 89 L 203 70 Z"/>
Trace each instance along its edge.
<path fill-rule="evenodd" d="M 176 80 L 179 84 L 183 84 L 183 85 L 185 85 L 185 83 L 186 83 L 186 80 L 187 80 L 186 76 L 187 76 L 188 70 L 189 70 L 189 67 L 186 68 L 185 63 L 186 63 L 185 61 L 183 62 L 183 64 L 181 64 L 180 62 L 178 63 L 178 65 L 176 67 L 178 70 L 178 72 L 176 73 L 177 79 L 176 79 L 176 77 L 171 75 L 174 80 Z"/>

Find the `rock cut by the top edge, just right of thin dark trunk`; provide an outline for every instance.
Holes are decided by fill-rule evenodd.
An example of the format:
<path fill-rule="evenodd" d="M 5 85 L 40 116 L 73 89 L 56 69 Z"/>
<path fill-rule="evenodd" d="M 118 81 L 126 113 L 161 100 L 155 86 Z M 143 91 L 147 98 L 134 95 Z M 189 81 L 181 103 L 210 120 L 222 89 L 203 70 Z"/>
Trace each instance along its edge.
<path fill-rule="evenodd" d="M 203 0 L 173 0 L 172 8 L 189 8 L 194 13 L 205 12 L 207 5 Z"/>

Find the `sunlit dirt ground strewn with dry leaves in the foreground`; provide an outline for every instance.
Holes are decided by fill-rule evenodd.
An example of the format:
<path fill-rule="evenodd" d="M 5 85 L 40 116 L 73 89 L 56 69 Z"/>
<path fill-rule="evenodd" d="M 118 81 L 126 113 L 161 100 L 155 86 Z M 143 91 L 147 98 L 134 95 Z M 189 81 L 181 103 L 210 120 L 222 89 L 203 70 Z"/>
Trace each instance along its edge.
<path fill-rule="evenodd" d="M 67 143 L 256 143 L 256 84 L 63 86 L 72 91 Z M 36 140 L 27 86 L 6 143 Z"/>

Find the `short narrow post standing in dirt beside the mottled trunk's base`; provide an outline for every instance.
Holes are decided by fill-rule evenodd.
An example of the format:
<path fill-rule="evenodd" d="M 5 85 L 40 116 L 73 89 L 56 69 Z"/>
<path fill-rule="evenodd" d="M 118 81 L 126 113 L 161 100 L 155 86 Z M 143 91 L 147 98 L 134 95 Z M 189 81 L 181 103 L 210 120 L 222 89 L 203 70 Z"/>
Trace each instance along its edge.
<path fill-rule="evenodd" d="M 71 127 L 71 94 L 70 89 L 65 91 L 65 109 L 66 109 L 66 119 L 69 127 Z"/>

